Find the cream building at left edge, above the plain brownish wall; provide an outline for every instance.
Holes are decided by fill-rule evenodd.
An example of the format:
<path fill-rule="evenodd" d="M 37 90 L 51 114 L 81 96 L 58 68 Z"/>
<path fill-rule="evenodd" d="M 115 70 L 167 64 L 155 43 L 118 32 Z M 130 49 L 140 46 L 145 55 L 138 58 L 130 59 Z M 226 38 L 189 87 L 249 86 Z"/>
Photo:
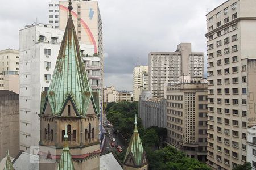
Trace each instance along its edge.
<path fill-rule="evenodd" d="M 0 51 L 0 73 L 19 74 L 19 51 L 5 49 Z"/>

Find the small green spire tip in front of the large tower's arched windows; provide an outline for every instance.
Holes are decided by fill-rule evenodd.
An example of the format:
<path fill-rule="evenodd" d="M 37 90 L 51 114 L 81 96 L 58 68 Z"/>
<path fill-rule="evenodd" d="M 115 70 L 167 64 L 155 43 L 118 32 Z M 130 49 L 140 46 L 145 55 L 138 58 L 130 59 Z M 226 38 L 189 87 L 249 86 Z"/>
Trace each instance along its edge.
<path fill-rule="evenodd" d="M 72 156 L 68 148 L 67 125 L 65 127 L 63 151 L 61 154 L 61 158 L 60 158 L 60 162 L 57 170 L 75 170 Z"/>

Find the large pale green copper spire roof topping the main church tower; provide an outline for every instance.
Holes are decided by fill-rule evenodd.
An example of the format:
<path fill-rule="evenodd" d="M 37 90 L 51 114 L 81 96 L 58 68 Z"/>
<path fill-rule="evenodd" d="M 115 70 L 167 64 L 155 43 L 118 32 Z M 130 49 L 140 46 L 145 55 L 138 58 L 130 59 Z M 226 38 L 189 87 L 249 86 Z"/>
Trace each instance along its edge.
<path fill-rule="evenodd" d="M 43 97 L 45 98 L 43 99 Z M 92 90 L 86 75 L 84 62 L 80 54 L 79 41 L 70 14 L 47 97 L 53 115 L 61 114 L 68 99 L 72 100 L 76 111 L 80 115 L 86 114 L 90 100 L 92 100 L 93 106 L 98 112 L 92 97 Z M 42 109 L 45 101 L 46 96 L 42 96 Z"/>

